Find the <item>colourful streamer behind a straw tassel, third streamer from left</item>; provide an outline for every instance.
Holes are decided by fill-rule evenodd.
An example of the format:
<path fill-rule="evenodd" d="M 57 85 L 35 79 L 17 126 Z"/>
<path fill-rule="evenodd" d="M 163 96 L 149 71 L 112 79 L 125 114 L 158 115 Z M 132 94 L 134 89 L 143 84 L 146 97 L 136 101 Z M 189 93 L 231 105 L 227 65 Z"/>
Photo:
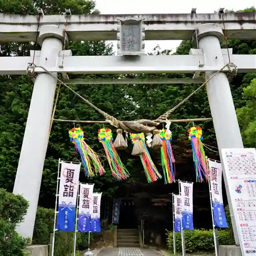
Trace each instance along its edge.
<path fill-rule="evenodd" d="M 143 168 L 144 168 L 147 182 L 151 183 L 151 182 L 157 181 L 158 179 L 161 179 L 162 176 L 160 175 L 160 173 L 158 173 L 158 170 L 151 159 L 150 153 L 147 150 L 144 134 L 143 133 L 139 133 L 139 134 L 131 133 L 130 136 L 131 136 L 133 145 L 135 143 L 137 143 L 137 140 L 139 140 L 140 143 L 144 147 L 145 152 L 139 156 L 140 156 L 140 160 L 142 162 Z"/>

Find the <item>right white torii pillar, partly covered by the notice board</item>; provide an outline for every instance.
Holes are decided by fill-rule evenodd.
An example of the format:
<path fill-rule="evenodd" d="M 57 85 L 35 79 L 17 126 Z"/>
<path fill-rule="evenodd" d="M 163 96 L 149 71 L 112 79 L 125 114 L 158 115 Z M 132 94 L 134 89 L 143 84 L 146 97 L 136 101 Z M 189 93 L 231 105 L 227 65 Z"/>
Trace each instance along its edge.
<path fill-rule="evenodd" d="M 217 24 L 204 24 L 197 29 L 197 33 L 195 32 L 193 34 L 194 44 L 196 44 L 197 39 L 199 48 L 202 49 L 204 53 L 205 65 L 209 67 L 219 66 L 222 68 L 226 64 L 224 63 L 220 46 L 220 41 L 223 41 L 224 39 L 222 28 Z M 207 80 L 214 75 L 214 73 L 215 72 L 210 71 L 205 72 L 205 79 Z M 217 74 L 207 82 L 206 89 L 220 157 L 222 148 L 243 148 L 244 146 L 238 125 L 237 114 L 234 109 L 234 103 L 226 74 L 223 72 Z M 239 245 L 238 229 L 236 221 L 234 220 L 233 206 L 227 184 L 228 181 L 223 161 L 221 162 L 234 239 L 236 245 Z"/>

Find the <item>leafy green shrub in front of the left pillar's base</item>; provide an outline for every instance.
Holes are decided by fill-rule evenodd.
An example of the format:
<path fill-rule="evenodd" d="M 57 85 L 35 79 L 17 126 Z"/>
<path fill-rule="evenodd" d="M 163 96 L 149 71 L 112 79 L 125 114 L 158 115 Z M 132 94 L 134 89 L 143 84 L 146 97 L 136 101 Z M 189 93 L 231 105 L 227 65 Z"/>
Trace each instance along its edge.
<path fill-rule="evenodd" d="M 15 225 L 23 220 L 28 202 L 18 195 L 0 188 L 0 255 L 22 256 L 27 239 L 15 231 Z"/>

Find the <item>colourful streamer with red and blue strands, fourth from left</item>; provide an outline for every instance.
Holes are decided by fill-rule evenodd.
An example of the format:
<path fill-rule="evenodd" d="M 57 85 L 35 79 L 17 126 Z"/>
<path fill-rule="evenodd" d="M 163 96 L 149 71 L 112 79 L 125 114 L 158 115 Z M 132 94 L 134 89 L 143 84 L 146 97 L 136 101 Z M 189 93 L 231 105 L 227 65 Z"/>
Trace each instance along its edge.
<path fill-rule="evenodd" d="M 163 141 L 163 145 L 161 146 L 161 159 L 162 159 L 162 167 L 164 174 L 164 183 L 172 183 L 175 182 L 175 171 L 174 171 L 174 154 L 172 145 L 170 141 L 172 141 L 172 132 L 170 130 L 162 129 L 160 130 L 160 138 Z"/>

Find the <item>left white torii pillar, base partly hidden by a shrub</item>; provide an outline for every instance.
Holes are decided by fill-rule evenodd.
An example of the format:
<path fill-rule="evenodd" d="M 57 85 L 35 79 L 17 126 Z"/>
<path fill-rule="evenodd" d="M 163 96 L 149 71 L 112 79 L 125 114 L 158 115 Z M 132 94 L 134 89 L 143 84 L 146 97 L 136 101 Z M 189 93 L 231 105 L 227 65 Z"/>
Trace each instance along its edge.
<path fill-rule="evenodd" d="M 58 56 L 65 40 L 65 30 L 56 25 L 41 27 L 38 42 L 41 45 L 39 65 L 46 69 L 58 65 Z M 54 74 L 57 77 L 57 73 Z M 25 219 L 17 232 L 32 239 L 42 170 L 46 157 L 56 79 L 47 73 L 35 78 L 29 114 L 20 152 L 13 193 L 29 201 Z"/>

